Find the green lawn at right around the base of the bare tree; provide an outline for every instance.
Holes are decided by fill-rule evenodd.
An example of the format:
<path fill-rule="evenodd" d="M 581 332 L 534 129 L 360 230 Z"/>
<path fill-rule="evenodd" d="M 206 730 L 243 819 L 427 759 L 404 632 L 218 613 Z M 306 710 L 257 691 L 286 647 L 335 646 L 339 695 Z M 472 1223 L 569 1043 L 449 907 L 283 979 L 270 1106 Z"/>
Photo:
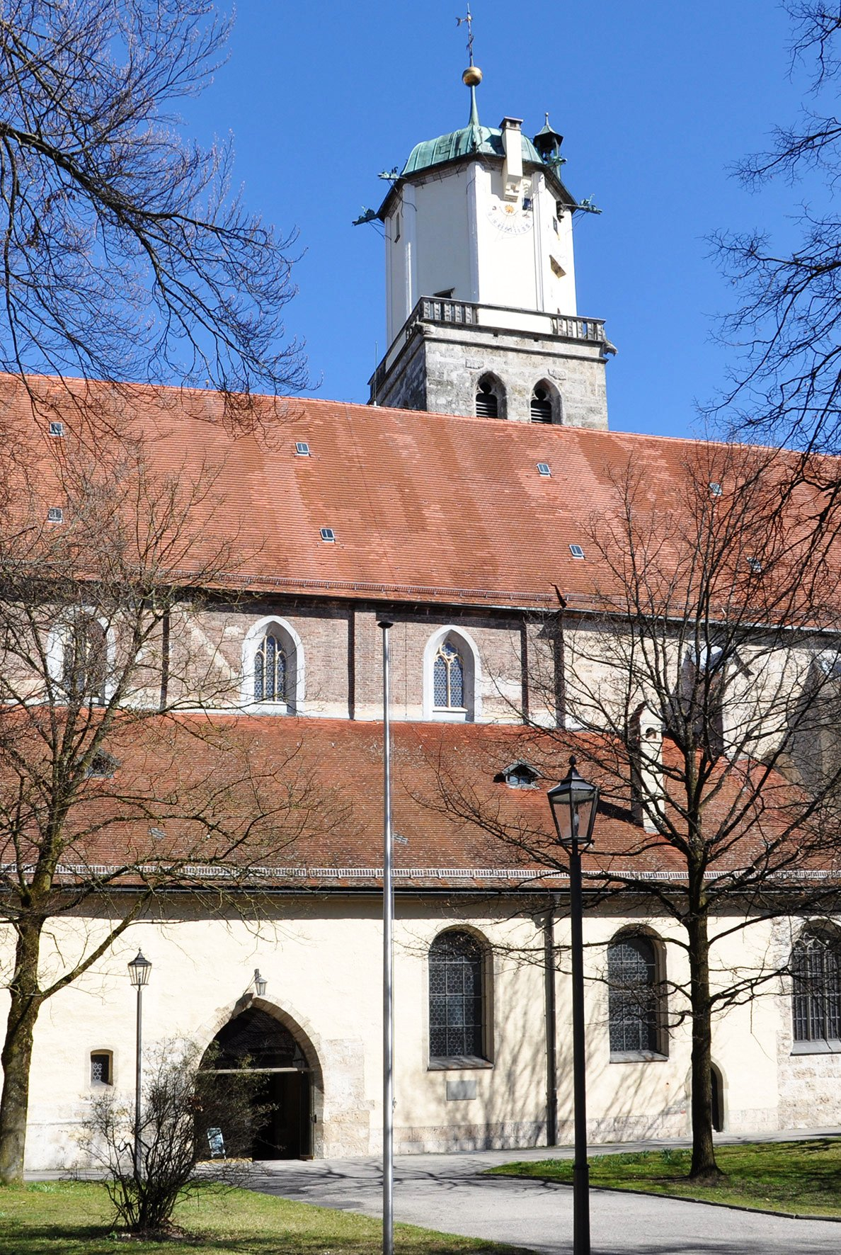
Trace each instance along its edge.
<path fill-rule="evenodd" d="M 841 1216 L 841 1138 L 718 1146 L 715 1158 L 726 1178 L 715 1186 L 697 1186 L 687 1180 L 689 1151 L 595 1155 L 590 1158 L 590 1183 L 768 1211 Z M 506 1163 L 490 1172 L 572 1183 L 571 1160 Z"/>

